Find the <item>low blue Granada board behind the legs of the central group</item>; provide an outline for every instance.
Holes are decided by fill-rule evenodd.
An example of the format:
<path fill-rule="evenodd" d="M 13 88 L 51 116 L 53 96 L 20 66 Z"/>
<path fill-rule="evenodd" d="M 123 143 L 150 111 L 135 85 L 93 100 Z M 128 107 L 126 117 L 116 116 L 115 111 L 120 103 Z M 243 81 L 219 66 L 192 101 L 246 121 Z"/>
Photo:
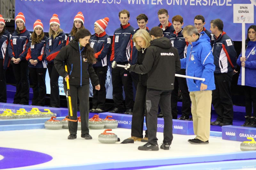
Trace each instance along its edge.
<path fill-rule="evenodd" d="M 132 115 L 107 112 L 107 113 L 100 113 L 99 117 L 102 119 L 105 119 L 107 115 L 113 116 L 111 119 L 115 119 L 118 121 L 118 126 L 117 126 L 118 128 L 131 129 Z M 146 121 L 144 118 L 143 130 L 146 130 L 146 129 L 147 129 Z M 157 132 L 164 132 L 164 119 L 163 118 L 157 119 Z M 180 135 L 194 135 L 193 122 L 192 121 L 173 120 L 172 132 L 174 134 L 180 134 Z"/>

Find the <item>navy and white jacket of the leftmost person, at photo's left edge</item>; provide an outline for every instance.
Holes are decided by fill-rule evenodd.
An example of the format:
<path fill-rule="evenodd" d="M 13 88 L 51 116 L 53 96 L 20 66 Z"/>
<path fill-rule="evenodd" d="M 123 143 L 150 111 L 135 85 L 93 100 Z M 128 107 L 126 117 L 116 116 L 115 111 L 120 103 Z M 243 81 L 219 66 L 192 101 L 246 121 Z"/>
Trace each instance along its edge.
<path fill-rule="evenodd" d="M 11 33 L 9 31 L 5 30 L 2 36 L 0 37 L 0 47 L 1 47 L 1 52 L 0 52 L 0 60 L 4 60 L 4 69 L 7 69 L 7 65 L 9 65 L 9 56 L 8 56 L 8 44 L 10 43 L 11 40 Z M 5 57 L 6 56 L 6 57 Z"/>

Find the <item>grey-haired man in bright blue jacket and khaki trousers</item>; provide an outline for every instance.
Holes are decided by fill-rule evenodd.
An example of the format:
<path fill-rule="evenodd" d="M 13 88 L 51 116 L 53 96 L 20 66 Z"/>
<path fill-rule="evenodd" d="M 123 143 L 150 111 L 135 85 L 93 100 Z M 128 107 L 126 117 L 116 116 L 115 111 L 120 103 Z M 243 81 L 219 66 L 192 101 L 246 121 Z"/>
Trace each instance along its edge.
<path fill-rule="evenodd" d="M 205 78 L 204 81 L 188 79 L 188 91 L 192 102 L 191 113 L 196 137 L 189 139 L 191 144 L 208 144 L 210 137 L 212 90 L 215 89 L 212 48 L 206 33 L 198 34 L 195 26 L 185 26 L 183 37 L 189 43 L 187 58 L 180 60 L 186 75 Z"/>

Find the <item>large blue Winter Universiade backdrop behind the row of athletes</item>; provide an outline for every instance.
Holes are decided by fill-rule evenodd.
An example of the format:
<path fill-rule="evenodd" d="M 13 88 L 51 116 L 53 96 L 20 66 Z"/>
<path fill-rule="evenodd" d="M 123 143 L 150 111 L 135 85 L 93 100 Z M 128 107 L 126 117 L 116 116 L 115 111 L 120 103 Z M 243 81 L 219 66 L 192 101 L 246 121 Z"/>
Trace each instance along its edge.
<path fill-rule="evenodd" d="M 23 12 L 26 18 L 26 27 L 33 31 L 33 23 L 41 19 L 44 24 L 44 32 L 49 30 L 49 21 L 53 13 L 59 15 L 60 27 L 65 33 L 69 33 L 73 26 L 73 19 L 77 12 L 84 14 L 84 26 L 94 33 L 94 22 L 108 17 L 109 23 L 106 29 L 108 35 L 113 35 L 119 27 L 119 11 L 130 11 L 130 23 L 137 29 L 136 16 L 145 13 L 149 29 L 157 26 L 159 20 L 157 11 L 165 8 L 169 12 L 169 21 L 174 15 L 184 18 L 184 26 L 193 25 L 194 17 L 198 14 L 204 16 L 206 29 L 210 30 L 210 21 L 220 18 L 224 22 L 224 31 L 233 39 L 241 41 L 242 24 L 233 23 L 233 4 L 251 4 L 255 0 L 16 0 L 15 16 Z M 254 6 L 254 13 L 256 8 Z M 254 23 L 256 17 L 254 16 Z M 246 24 L 248 28 L 251 24 Z"/>

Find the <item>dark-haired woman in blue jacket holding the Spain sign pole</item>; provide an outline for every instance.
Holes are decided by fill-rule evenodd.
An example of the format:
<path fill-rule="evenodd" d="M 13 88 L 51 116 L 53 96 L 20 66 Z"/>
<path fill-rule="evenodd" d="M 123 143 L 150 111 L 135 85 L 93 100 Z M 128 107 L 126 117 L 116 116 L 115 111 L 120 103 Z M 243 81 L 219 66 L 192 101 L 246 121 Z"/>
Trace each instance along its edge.
<path fill-rule="evenodd" d="M 242 53 L 236 60 L 237 65 L 241 67 L 237 85 L 242 82 L 242 67 L 245 67 L 245 122 L 241 126 L 256 127 L 256 26 L 248 28 L 247 38 L 245 40 L 247 48 L 245 56 Z M 252 109 L 253 108 L 253 109 Z M 253 114 L 252 114 L 253 110 Z"/>

